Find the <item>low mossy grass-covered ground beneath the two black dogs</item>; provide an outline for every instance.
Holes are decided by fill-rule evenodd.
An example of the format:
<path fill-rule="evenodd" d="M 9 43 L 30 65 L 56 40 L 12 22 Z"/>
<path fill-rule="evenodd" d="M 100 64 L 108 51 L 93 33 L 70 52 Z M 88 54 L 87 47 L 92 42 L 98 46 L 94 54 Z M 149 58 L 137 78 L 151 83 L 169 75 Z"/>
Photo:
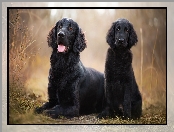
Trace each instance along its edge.
<path fill-rule="evenodd" d="M 67 119 L 52 119 L 43 114 L 33 112 L 36 106 L 44 102 L 34 94 L 26 94 L 23 90 L 10 87 L 9 90 L 9 124 L 166 124 L 166 109 L 160 104 L 150 105 L 143 109 L 139 120 L 97 119 L 97 114 L 83 115 Z"/>

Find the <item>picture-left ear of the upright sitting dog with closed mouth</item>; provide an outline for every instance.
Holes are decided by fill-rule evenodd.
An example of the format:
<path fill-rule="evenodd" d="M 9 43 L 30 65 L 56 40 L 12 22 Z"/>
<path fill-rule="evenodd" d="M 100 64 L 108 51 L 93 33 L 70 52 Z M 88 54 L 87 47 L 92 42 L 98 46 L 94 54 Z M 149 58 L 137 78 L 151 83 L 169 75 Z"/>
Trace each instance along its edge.
<path fill-rule="evenodd" d="M 106 42 L 110 45 L 111 48 L 115 47 L 115 24 L 116 23 L 112 23 L 112 26 L 106 35 Z"/>

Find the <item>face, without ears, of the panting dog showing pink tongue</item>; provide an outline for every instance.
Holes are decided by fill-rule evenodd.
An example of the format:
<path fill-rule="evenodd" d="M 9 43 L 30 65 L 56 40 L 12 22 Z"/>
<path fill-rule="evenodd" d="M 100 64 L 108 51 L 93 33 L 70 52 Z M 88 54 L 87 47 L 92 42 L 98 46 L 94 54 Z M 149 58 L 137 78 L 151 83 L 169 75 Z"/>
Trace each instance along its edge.
<path fill-rule="evenodd" d="M 57 52 L 66 53 L 72 49 L 78 32 L 78 25 L 72 19 L 63 18 L 56 24 Z"/>

